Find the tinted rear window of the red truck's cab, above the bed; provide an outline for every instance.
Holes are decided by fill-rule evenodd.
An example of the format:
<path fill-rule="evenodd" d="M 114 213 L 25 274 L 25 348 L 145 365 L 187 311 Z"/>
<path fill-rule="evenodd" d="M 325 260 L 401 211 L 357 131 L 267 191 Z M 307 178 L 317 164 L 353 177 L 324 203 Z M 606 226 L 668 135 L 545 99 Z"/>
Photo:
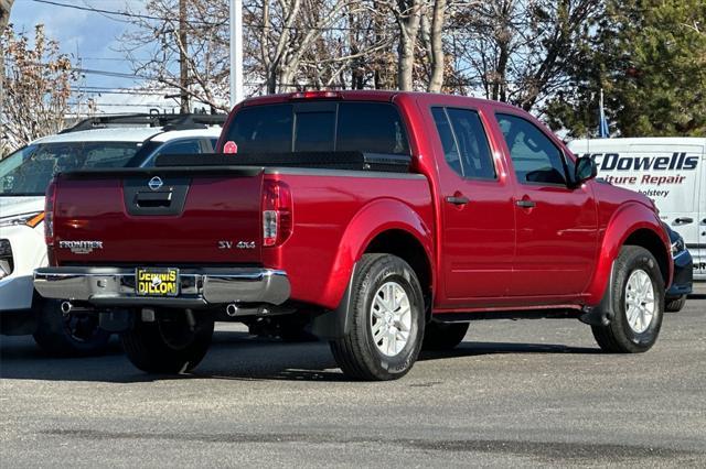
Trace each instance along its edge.
<path fill-rule="evenodd" d="M 409 154 L 405 126 L 393 105 L 312 103 L 244 108 L 235 116 L 226 140 L 234 141 L 240 153 Z"/>

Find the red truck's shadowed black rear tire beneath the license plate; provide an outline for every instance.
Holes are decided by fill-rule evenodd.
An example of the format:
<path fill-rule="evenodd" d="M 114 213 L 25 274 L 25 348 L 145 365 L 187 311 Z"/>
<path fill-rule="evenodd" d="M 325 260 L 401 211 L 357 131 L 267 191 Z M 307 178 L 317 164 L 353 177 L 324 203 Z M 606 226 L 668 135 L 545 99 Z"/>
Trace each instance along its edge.
<path fill-rule="evenodd" d="M 193 315 L 193 329 L 183 309 L 158 309 L 153 323 L 136 320 L 132 329 L 120 335 L 130 362 L 148 373 L 194 369 L 211 346 L 213 316 L 196 312 Z"/>

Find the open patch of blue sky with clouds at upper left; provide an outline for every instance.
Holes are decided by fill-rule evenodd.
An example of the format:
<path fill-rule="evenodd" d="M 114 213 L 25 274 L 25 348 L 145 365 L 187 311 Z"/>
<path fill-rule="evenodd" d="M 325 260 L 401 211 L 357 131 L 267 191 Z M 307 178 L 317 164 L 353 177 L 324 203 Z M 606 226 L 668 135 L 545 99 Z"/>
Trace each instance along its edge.
<path fill-rule="evenodd" d="M 142 0 L 49 0 L 77 7 L 88 7 L 109 11 L 146 13 Z M 122 21 L 121 21 L 122 20 Z M 130 30 L 125 18 L 109 17 L 103 13 L 82 11 L 36 0 L 14 0 L 10 12 L 10 22 L 15 31 L 25 31 L 33 35 L 36 24 L 44 24 L 49 37 L 57 40 L 61 52 L 68 54 L 75 65 L 76 57 L 81 67 L 89 70 L 117 72 L 131 74 L 130 65 L 124 61 L 120 50 L 120 35 Z M 139 53 L 138 53 L 139 54 Z M 86 73 L 77 84 L 84 89 L 100 87 L 110 89 L 135 88 L 143 83 L 135 77 L 109 77 Z M 153 105 L 165 110 L 178 109 L 173 99 L 162 96 L 131 96 L 92 92 L 104 112 L 147 112 Z"/>

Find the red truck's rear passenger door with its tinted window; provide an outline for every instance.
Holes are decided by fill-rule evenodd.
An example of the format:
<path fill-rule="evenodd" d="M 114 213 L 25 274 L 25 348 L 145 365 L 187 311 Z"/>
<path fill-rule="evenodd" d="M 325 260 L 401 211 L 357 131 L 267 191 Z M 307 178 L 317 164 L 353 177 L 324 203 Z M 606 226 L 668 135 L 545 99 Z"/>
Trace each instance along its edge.
<path fill-rule="evenodd" d="M 513 189 L 475 109 L 431 107 L 442 219 L 442 294 L 437 307 L 494 304 L 510 292 Z M 440 292 L 441 293 L 441 292 Z"/>

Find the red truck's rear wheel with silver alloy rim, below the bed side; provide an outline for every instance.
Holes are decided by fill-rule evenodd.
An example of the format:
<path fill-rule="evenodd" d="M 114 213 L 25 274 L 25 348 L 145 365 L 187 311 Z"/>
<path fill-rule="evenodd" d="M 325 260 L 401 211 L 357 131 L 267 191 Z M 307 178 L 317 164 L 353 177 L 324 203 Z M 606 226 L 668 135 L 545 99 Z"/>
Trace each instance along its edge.
<path fill-rule="evenodd" d="M 330 342 L 343 372 L 368 381 L 404 377 L 417 360 L 425 327 L 424 297 L 411 268 L 395 255 L 363 255 L 349 309 L 351 330 Z"/>

